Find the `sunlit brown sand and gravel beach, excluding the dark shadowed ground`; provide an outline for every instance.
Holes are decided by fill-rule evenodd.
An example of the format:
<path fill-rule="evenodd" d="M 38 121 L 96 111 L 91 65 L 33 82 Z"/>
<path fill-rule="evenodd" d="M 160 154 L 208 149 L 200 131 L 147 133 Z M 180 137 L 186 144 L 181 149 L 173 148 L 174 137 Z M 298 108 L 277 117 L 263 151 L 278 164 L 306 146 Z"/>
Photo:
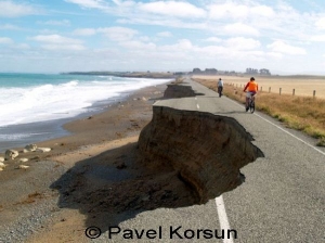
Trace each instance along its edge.
<path fill-rule="evenodd" d="M 152 119 L 152 104 L 162 98 L 167 84 L 169 81 L 135 90 L 101 113 L 65 124 L 63 128 L 69 135 L 37 143 L 38 146 L 52 148 L 49 153 L 29 152 L 4 162 L 8 166 L 0 171 L 0 193 L 5 195 L 0 200 L 0 214 L 3 216 L 0 240 L 43 242 L 47 238 L 57 242 L 60 235 L 84 240 L 82 234 L 74 234 L 69 225 L 74 220 L 74 229 L 84 230 L 87 220 L 83 213 L 76 208 L 62 208 L 60 193 L 53 184 L 78 164 L 88 159 L 96 162 L 101 154 L 113 156 L 103 162 L 103 168 L 113 166 L 116 169 L 115 161 L 119 157 L 131 156 L 133 159 L 140 131 Z M 18 162 L 21 157 L 29 158 L 23 163 L 29 166 L 28 169 L 15 169 L 22 164 Z M 130 172 L 138 169 L 130 168 Z M 106 170 L 105 175 L 110 175 L 110 170 Z M 99 179 L 94 177 L 94 183 Z M 63 220 L 66 215 L 69 215 L 68 219 Z"/>

